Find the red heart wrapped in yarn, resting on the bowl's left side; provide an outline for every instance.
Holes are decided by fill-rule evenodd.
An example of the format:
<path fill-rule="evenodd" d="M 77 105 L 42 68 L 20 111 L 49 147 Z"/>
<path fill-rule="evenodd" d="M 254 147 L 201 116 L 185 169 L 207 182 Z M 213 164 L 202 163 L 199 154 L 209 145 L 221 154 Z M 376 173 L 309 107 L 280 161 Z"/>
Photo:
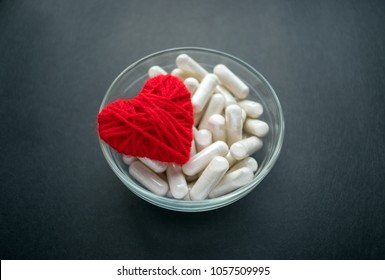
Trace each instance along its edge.
<path fill-rule="evenodd" d="M 119 99 L 98 114 L 99 136 L 119 153 L 184 164 L 194 124 L 191 94 L 178 78 L 148 79 L 133 99 Z"/>

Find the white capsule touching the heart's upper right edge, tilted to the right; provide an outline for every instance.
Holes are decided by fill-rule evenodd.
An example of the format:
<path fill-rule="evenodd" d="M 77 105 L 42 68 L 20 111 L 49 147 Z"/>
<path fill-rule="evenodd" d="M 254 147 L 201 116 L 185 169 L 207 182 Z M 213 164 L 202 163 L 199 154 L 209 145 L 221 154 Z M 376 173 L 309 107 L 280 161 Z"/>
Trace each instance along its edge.
<path fill-rule="evenodd" d="M 194 113 L 199 113 L 206 106 L 212 96 L 215 87 L 218 84 L 218 79 L 214 74 L 207 74 L 199 84 L 197 90 L 191 98 L 191 103 L 194 107 Z"/>

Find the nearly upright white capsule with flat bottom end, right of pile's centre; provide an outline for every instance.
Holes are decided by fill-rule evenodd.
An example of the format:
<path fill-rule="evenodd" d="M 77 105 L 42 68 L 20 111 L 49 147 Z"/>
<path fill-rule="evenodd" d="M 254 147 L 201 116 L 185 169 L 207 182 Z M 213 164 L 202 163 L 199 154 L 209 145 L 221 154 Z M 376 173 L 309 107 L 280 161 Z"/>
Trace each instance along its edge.
<path fill-rule="evenodd" d="M 227 143 L 233 143 L 242 139 L 242 109 L 236 104 L 228 106 L 225 110 Z"/>

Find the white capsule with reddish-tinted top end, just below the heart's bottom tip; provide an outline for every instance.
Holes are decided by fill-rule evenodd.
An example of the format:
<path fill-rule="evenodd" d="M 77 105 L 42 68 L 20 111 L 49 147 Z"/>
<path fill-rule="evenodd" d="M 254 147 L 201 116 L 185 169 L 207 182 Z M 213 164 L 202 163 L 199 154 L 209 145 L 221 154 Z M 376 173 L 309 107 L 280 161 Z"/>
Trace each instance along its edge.
<path fill-rule="evenodd" d="M 172 196 L 176 199 L 184 198 L 188 193 L 188 187 L 182 167 L 178 164 L 169 164 L 166 174 Z"/>

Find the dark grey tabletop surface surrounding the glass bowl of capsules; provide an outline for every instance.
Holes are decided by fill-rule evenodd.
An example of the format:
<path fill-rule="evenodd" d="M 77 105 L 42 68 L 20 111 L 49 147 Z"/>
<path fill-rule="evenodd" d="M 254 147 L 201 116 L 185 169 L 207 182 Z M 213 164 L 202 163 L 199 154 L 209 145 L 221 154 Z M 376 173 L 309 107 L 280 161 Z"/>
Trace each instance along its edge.
<path fill-rule="evenodd" d="M 2 259 L 384 259 L 383 1 L 0 1 Z M 218 49 L 285 115 L 260 187 L 206 213 L 142 201 L 95 117 L 152 52 Z"/>

